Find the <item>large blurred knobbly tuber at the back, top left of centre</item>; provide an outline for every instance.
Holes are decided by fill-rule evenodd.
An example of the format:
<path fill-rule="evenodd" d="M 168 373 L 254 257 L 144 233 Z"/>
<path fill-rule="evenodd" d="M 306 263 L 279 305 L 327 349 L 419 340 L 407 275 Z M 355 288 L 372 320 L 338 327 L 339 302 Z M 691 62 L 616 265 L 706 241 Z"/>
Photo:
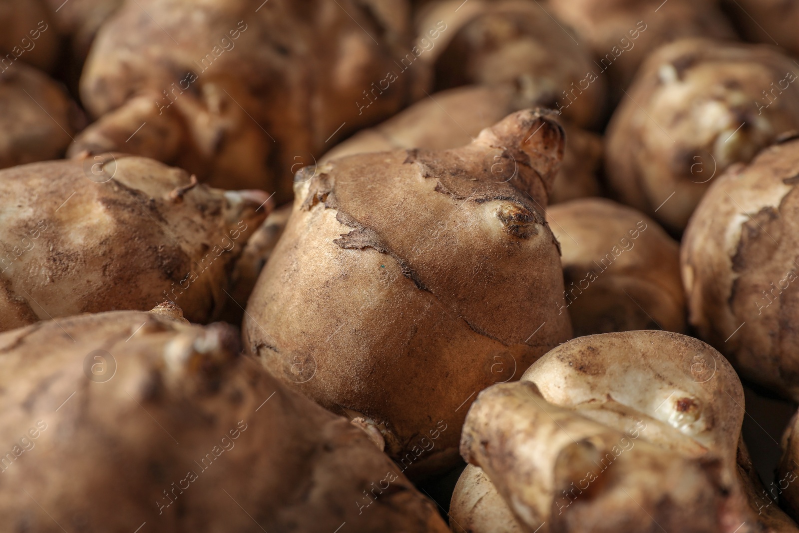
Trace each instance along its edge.
<path fill-rule="evenodd" d="M 126 2 L 83 70 L 98 121 L 71 153 L 136 153 L 288 201 L 297 169 L 422 94 L 423 66 L 397 66 L 408 18 L 404 0 Z"/>

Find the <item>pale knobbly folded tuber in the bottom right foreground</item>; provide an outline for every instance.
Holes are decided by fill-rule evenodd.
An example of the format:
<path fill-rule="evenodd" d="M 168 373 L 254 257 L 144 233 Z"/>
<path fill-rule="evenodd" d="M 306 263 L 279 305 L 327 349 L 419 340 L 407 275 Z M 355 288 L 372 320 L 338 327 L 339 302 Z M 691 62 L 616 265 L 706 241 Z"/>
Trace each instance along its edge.
<path fill-rule="evenodd" d="M 743 401 L 733 368 L 700 340 L 570 340 L 472 404 L 461 453 L 485 475 L 464 472 L 451 514 L 491 527 L 473 533 L 514 531 L 507 511 L 528 533 L 795 532 L 777 506 L 758 515 L 761 486 L 739 448 Z M 498 492 L 507 509 L 481 507 L 470 491 Z"/>

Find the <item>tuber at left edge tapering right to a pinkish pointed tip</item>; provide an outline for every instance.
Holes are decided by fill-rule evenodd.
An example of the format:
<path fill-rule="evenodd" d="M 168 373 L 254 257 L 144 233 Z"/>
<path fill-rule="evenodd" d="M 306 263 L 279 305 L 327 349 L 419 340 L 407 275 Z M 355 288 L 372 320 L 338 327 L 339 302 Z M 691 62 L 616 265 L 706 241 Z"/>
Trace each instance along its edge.
<path fill-rule="evenodd" d="M 165 299 L 213 320 L 271 207 L 261 191 L 210 189 L 121 154 L 5 169 L 0 197 L 15 199 L 0 213 L 0 331 Z"/>

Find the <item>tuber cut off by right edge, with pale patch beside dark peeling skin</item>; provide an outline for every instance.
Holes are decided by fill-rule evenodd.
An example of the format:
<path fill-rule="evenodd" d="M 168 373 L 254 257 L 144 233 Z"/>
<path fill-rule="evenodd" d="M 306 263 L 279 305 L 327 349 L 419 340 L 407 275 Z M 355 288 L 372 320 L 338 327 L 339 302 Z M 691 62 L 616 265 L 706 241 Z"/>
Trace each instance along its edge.
<path fill-rule="evenodd" d="M 745 380 L 799 400 L 799 139 L 710 187 L 682 241 L 690 324 Z"/>

